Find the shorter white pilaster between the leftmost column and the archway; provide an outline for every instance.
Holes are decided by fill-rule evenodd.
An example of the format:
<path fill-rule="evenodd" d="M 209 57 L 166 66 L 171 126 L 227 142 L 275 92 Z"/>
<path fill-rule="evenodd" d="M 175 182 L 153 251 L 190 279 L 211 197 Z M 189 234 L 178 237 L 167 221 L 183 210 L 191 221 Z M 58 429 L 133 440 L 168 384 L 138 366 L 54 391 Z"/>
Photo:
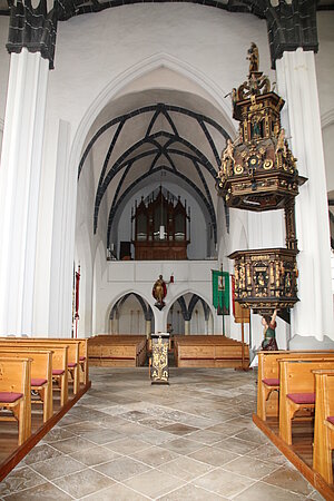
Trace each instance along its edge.
<path fill-rule="evenodd" d="M 37 334 L 49 337 L 68 337 L 71 333 L 77 173 L 69 168 L 69 124 L 48 114 L 38 220 L 35 325 Z M 80 304 L 84 307 L 81 301 Z"/>

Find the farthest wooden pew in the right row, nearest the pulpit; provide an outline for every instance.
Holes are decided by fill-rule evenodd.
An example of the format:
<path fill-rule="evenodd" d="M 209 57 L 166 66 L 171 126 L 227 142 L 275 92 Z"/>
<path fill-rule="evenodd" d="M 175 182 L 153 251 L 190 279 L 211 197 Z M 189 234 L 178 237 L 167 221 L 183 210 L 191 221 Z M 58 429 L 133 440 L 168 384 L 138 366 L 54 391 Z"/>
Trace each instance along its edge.
<path fill-rule="evenodd" d="M 258 376 L 257 376 L 257 415 L 263 421 L 266 421 L 267 416 L 278 416 L 278 390 L 279 390 L 279 363 L 282 358 L 324 358 L 334 357 L 334 351 L 273 351 L 273 352 L 258 352 Z M 276 392 L 276 397 L 269 397 Z"/>

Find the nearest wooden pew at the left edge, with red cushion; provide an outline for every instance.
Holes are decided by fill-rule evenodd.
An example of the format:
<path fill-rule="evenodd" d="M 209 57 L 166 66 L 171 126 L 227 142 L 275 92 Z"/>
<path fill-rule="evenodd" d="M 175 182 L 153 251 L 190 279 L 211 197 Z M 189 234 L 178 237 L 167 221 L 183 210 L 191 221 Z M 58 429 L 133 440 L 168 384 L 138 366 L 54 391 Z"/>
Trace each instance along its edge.
<path fill-rule="evenodd" d="M 0 416 L 0 421 L 18 421 L 19 445 L 31 434 L 31 360 L 0 356 L 0 409 L 13 412 L 14 418 Z"/>

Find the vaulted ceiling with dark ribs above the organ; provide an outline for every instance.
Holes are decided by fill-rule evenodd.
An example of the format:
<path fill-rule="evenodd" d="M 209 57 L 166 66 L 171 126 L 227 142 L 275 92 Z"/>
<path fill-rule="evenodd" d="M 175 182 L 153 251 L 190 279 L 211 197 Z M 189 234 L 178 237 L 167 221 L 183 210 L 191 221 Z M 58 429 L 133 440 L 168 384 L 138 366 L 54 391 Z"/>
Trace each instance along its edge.
<path fill-rule="evenodd" d="M 165 183 L 183 186 L 198 202 L 216 242 L 215 187 L 229 137 L 224 126 L 212 104 L 189 92 L 157 89 L 112 101 L 94 125 L 78 166 L 79 181 L 94 168 L 94 232 L 106 202 L 108 243 L 117 212 L 163 173 Z"/>

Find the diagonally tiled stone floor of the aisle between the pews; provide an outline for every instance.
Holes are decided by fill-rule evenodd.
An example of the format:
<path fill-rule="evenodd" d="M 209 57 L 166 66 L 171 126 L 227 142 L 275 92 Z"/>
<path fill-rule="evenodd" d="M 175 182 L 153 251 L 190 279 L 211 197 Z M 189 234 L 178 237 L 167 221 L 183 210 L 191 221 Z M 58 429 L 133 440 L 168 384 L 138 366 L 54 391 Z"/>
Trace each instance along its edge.
<path fill-rule="evenodd" d="M 0 483 L 1 500 L 322 500 L 252 423 L 256 374 L 92 369 L 92 386 Z"/>

